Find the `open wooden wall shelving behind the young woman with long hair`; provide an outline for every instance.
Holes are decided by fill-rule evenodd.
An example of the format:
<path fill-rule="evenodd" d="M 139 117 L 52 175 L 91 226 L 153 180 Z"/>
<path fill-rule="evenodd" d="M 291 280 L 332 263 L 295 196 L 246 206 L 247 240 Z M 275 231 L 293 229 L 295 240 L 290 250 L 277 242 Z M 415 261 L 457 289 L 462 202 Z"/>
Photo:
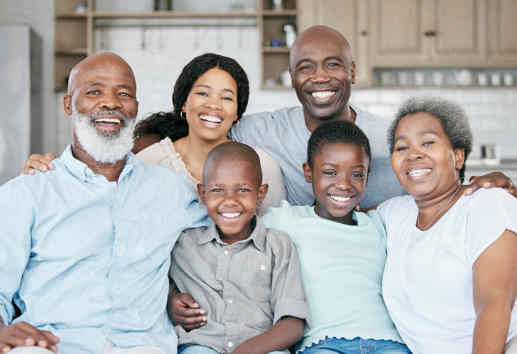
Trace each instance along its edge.
<path fill-rule="evenodd" d="M 74 13 L 75 7 L 86 1 L 87 13 Z M 94 0 L 55 0 L 58 18 L 70 19 L 72 27 L 56 24 L 55 82 L 66 90 L 70 70 L 79 61 L 94 53 L 94 21 L 96 19 L 256 19 L 258 34 L 265 40 L 280 41 L 281 47 L 261 47 L 261 88 L 266 90 L 291 89 L 280 84 L 281 73 L 287 70 L 291 50 L 285 47 L 283 25 L 293 23 L 296 27 L 297 0 L 284 0 L 283 9 L 275 10 L 271 0 L 257 0 L 256 11 L 192 12 L 192 11 L 97 11 Z M 298 30 L 296 28 L 296 30 Z M 261 45 L 263 43 L 260 43 Z M 274 79 L 275 85 L 264 85 L 266 79 Z M 269 80 L 270 81 L 270 80 Z"/>

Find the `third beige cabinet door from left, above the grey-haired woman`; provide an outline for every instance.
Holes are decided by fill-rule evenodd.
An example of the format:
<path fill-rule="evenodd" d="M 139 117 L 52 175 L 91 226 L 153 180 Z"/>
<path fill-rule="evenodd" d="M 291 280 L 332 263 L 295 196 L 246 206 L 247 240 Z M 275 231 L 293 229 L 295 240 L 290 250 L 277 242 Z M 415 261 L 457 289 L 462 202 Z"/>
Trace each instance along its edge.
<path fill-rule="evenodd" d="M 484 67 L 486 56 L 486 2 L 434 0 L 433 47 L 427 48 L 435 66 Z"/>

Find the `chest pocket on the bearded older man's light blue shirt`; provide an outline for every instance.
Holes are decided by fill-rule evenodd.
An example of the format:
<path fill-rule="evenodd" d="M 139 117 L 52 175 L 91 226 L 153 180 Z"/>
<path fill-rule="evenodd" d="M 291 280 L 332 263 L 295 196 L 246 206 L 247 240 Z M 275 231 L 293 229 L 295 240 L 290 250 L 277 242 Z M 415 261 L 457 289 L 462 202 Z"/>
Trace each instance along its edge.
<path fill-rule="evenodd" d="M 154 212 L 140 212 L 144 251 L 150 260 L 163 262 L 171 253 L 174 233 L 174 218 Z"/>

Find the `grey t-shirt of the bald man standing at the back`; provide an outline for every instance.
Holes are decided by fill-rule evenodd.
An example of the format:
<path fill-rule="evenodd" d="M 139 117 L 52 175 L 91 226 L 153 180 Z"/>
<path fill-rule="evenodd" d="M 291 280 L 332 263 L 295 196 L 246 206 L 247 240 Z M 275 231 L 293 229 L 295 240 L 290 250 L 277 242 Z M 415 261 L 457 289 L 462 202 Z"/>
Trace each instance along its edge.
<path fill-rule="evenodd" d="M 355 104 L 350 103 L 350 106 L 357 115 L 355 124 L 368 136 L 372 149 L 371 172 L 361 208 L 407 194 L 391 168 L 386 141 L 389 119 L 365 112 Z M 291 205 L 314 203 L 312 186 L 303 177 L 301 167 L 307 161 L 310 136 L 301 106 L 245 115 L 237 128 L 229 132 L 232 140 L 260 147 L 278 161 L 284 175 L 287 201 Z"/>

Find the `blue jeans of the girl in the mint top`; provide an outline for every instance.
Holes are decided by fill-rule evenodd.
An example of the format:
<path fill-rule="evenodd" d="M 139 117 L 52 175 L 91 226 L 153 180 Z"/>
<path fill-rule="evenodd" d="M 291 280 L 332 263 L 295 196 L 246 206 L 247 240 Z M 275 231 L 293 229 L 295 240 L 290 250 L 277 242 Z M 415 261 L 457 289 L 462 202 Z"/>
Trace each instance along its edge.
<path fill-rule="evenodd" d="M 360 337 L 348 340 L 345 338 L 325 338 L 302 352 L 303 354 L 411 354 L 405 344 L 393 341 L 376 341 Z"/>

